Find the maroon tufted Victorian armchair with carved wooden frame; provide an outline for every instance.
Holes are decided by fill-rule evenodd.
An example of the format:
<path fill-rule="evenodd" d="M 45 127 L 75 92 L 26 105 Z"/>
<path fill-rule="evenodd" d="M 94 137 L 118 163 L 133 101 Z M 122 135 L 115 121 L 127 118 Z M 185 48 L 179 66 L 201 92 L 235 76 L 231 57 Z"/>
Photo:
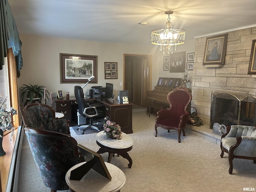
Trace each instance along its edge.
<path fill-rule="evenodd" d="M 180 134 L 185 136 L 186 122 L 190 116 L 186 108 L 192 99 L 192 95 L 186 86 L 180 86 L 172 90 L 167 95 L 170 107 L 157 112 L 155 130 L 157 136 L 157 128 L 161 127 L 168 130 L 178 131 L 178 142 L 180 143 Z"/>

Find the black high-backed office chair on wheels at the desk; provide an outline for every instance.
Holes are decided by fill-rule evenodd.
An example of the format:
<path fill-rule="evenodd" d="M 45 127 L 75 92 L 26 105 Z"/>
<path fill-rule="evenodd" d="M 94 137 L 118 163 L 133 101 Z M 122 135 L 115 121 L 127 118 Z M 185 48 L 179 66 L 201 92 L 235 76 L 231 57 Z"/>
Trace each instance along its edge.
<path fill-rule="evenodd" d="M 88 103 L 86 102 L 86 100 L 84 99 L 84 91 L 83 91 L 82 87 L 80 87 L 80 86 L 75 86 L 74 92 L 75 92 L 76 102 L 78 103 L 79 114 L 85 118 L 90 118 L 89 125 L 79 126 L 77 128 L 77 130 L 80 130 L 83 128 L 82 134 L 84 134 L 84 131 L 86 131 L 88 129 L 95 129 L 95 130 L 100 131 L 100 129 L 98 127 L 93 126 L 93 118 L 100 116 L 99 112 L 97 110 L 97 107 L 102 108 L 103 106 L 101 106 L 100 104 L 98 104 L 98 105 L 94 104 L 94 106 L 89 106 Z"/>

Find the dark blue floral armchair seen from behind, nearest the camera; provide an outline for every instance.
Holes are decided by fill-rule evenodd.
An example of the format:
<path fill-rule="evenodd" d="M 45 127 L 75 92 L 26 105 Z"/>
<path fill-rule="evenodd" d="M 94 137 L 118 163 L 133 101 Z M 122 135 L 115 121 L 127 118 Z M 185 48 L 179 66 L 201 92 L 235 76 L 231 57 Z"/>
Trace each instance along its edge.
<path fill-rule="evenodd" d="M 85 161 L 79 153 L 76 140 L 53 131 L 29 127 L 24 130 L 44 185 L 51 192 L 68 190 L 66 173 L 74 165 Z"/>

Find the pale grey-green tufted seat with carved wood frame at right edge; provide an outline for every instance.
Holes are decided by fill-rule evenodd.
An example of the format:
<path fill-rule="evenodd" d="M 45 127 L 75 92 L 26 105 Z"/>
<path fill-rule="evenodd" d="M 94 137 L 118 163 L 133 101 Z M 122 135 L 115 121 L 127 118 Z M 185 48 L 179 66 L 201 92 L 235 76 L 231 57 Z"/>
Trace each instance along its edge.
<path fill-rule="evenodd" d="M 232 125 L 220 142 L 222 158 L 228 153 L 229 174 L 233 171 L 233 159 L 251 159 L 256 164 L 256 130 L 254 126 Z"/>

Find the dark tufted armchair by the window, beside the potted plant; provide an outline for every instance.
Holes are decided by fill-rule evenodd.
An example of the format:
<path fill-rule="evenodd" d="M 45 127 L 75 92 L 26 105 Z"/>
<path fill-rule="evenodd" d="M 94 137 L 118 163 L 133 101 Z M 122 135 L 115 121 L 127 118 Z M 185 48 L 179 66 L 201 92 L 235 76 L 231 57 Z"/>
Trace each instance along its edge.
<path fill-rule="evenodd" d="M 70 135 L 69 120 L 55 118 L 53 108 L 45 104 L 28 104 L 24 108 L 19 104 L 25 127 L 56 131 Z"/>

